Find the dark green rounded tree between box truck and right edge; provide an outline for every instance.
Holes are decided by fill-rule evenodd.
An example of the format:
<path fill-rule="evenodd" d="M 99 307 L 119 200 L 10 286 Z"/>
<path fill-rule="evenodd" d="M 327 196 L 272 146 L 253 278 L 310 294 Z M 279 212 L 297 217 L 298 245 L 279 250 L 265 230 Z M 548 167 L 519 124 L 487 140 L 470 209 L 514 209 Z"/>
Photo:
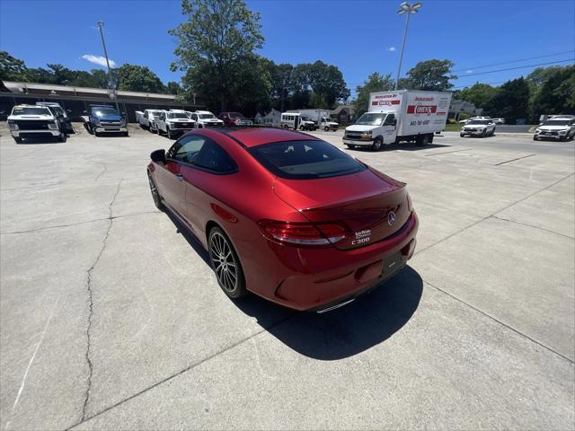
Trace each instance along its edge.
<path fill-rule="evenodd" d="M 529 84 L 520 77 L 501 85 L 485 108 L 489 115 L 502 117 L 508 124 L 514 124 L 517 119 L 528 118 L 528 105 Z"/>

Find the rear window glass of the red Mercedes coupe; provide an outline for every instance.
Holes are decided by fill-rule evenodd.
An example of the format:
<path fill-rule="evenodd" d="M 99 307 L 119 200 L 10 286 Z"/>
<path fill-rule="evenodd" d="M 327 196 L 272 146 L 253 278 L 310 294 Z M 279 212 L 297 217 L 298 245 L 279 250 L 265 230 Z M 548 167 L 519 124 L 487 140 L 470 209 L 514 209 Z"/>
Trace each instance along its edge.
<path fill-rule="evenodd" d="M 268 171 L 292 180 L 349 175 L 366 169 L 353 157 L 320 140 L 274 142 L 249 151 Z"/>

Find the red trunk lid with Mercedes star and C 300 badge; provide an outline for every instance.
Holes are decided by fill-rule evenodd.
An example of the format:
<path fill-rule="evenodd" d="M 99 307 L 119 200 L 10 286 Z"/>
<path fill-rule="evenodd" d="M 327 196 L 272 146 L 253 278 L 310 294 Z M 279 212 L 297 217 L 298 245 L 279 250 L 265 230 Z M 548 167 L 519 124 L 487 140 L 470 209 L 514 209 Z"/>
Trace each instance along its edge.
<path fill-rule="evenodd" d="M 274 192 L 311 222 L 345 224 L 346 238 L 334 244 L 341 250 L 384 240 L 410 216 L 405 184 L 368 169 L 316 180 L 277 178 Z"/>

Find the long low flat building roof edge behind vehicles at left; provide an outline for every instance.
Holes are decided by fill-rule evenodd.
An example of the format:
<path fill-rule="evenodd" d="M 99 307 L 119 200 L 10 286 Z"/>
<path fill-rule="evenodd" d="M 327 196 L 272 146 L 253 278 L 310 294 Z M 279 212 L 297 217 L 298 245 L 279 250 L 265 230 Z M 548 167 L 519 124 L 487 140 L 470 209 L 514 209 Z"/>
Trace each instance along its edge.
<path fill-rule="evenodd" d="M 78 87 L 72 85 L 18 83 L 14 81 L 3 81 L 4 86 L 10 91 L 18 94 L 51 94 L 62 96 L 91 96 L 111 99 L 111 90 L 107 88 Z M 160 94 L 156 92 L 116 92 L 118 98 L 135 101 L 164 101 L 175 102 L 175 94 Z"/>

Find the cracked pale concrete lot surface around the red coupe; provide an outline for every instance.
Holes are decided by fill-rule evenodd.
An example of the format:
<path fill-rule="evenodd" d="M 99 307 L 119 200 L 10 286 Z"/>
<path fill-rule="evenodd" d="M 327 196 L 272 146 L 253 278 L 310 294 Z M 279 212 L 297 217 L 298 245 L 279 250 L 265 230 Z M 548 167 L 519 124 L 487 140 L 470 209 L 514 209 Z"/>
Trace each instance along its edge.
<path fill-rule="evenodd" d="M 408 183 L 418 249 L 320 315 L 220 291 L 149 193 L 173 141 L 80 132 L 0 132 L 2 429 L 575 427 L 573 141 L 346 150 Z"/>

